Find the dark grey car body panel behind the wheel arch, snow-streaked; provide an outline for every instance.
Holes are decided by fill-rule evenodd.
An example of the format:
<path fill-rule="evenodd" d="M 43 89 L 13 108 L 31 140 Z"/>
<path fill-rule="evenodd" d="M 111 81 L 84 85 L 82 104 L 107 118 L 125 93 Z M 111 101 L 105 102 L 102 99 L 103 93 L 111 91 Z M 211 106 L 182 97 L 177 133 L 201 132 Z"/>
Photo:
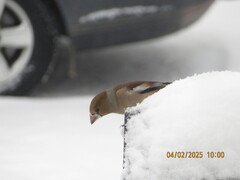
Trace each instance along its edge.
<path fill-rule="evenodd" d="M 89 49 L 163 36 L 195 22 L 212 0 L 58 0 L 65 33 Z"/>

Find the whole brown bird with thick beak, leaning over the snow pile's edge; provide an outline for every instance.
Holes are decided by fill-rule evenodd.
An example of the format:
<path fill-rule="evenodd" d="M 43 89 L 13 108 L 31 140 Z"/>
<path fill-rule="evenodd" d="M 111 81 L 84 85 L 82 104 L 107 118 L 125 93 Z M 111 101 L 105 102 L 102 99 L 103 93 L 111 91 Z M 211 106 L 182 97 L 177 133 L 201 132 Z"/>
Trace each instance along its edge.
<path fill-rule="evenodd" d="M 90 122 L 110 114 L 124 114 L 128 107 L 136 106 L 145 98 L 171 84 L 171 82 L 134 81 L 119 84 L 97 94 L 90 103 Z"/>

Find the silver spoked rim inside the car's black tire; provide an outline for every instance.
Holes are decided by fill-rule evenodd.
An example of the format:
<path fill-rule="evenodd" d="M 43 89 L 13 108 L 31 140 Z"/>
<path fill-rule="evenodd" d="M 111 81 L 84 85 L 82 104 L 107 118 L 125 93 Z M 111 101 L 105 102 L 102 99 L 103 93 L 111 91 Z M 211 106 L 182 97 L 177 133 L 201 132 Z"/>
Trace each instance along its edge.
<path fill-rule="evenodd" d="M 30 61 L 33 46 L 30 19 L 15 1 L 6 0 L 0 15 L 0 91 L 19 81 Z"/>

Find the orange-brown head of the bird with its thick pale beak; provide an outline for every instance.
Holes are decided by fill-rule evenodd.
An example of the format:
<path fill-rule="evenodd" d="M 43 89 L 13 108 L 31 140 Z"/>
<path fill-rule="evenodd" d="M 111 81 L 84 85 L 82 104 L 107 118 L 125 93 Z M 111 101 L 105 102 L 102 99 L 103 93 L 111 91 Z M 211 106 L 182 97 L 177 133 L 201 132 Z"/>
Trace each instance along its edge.
<path fill-rule="evenodd" d="M 106 91 L 96 95 L 90 104 L 90 122 L 93 124 L 97 119 L 111 113 L 111 105 Z"/>

